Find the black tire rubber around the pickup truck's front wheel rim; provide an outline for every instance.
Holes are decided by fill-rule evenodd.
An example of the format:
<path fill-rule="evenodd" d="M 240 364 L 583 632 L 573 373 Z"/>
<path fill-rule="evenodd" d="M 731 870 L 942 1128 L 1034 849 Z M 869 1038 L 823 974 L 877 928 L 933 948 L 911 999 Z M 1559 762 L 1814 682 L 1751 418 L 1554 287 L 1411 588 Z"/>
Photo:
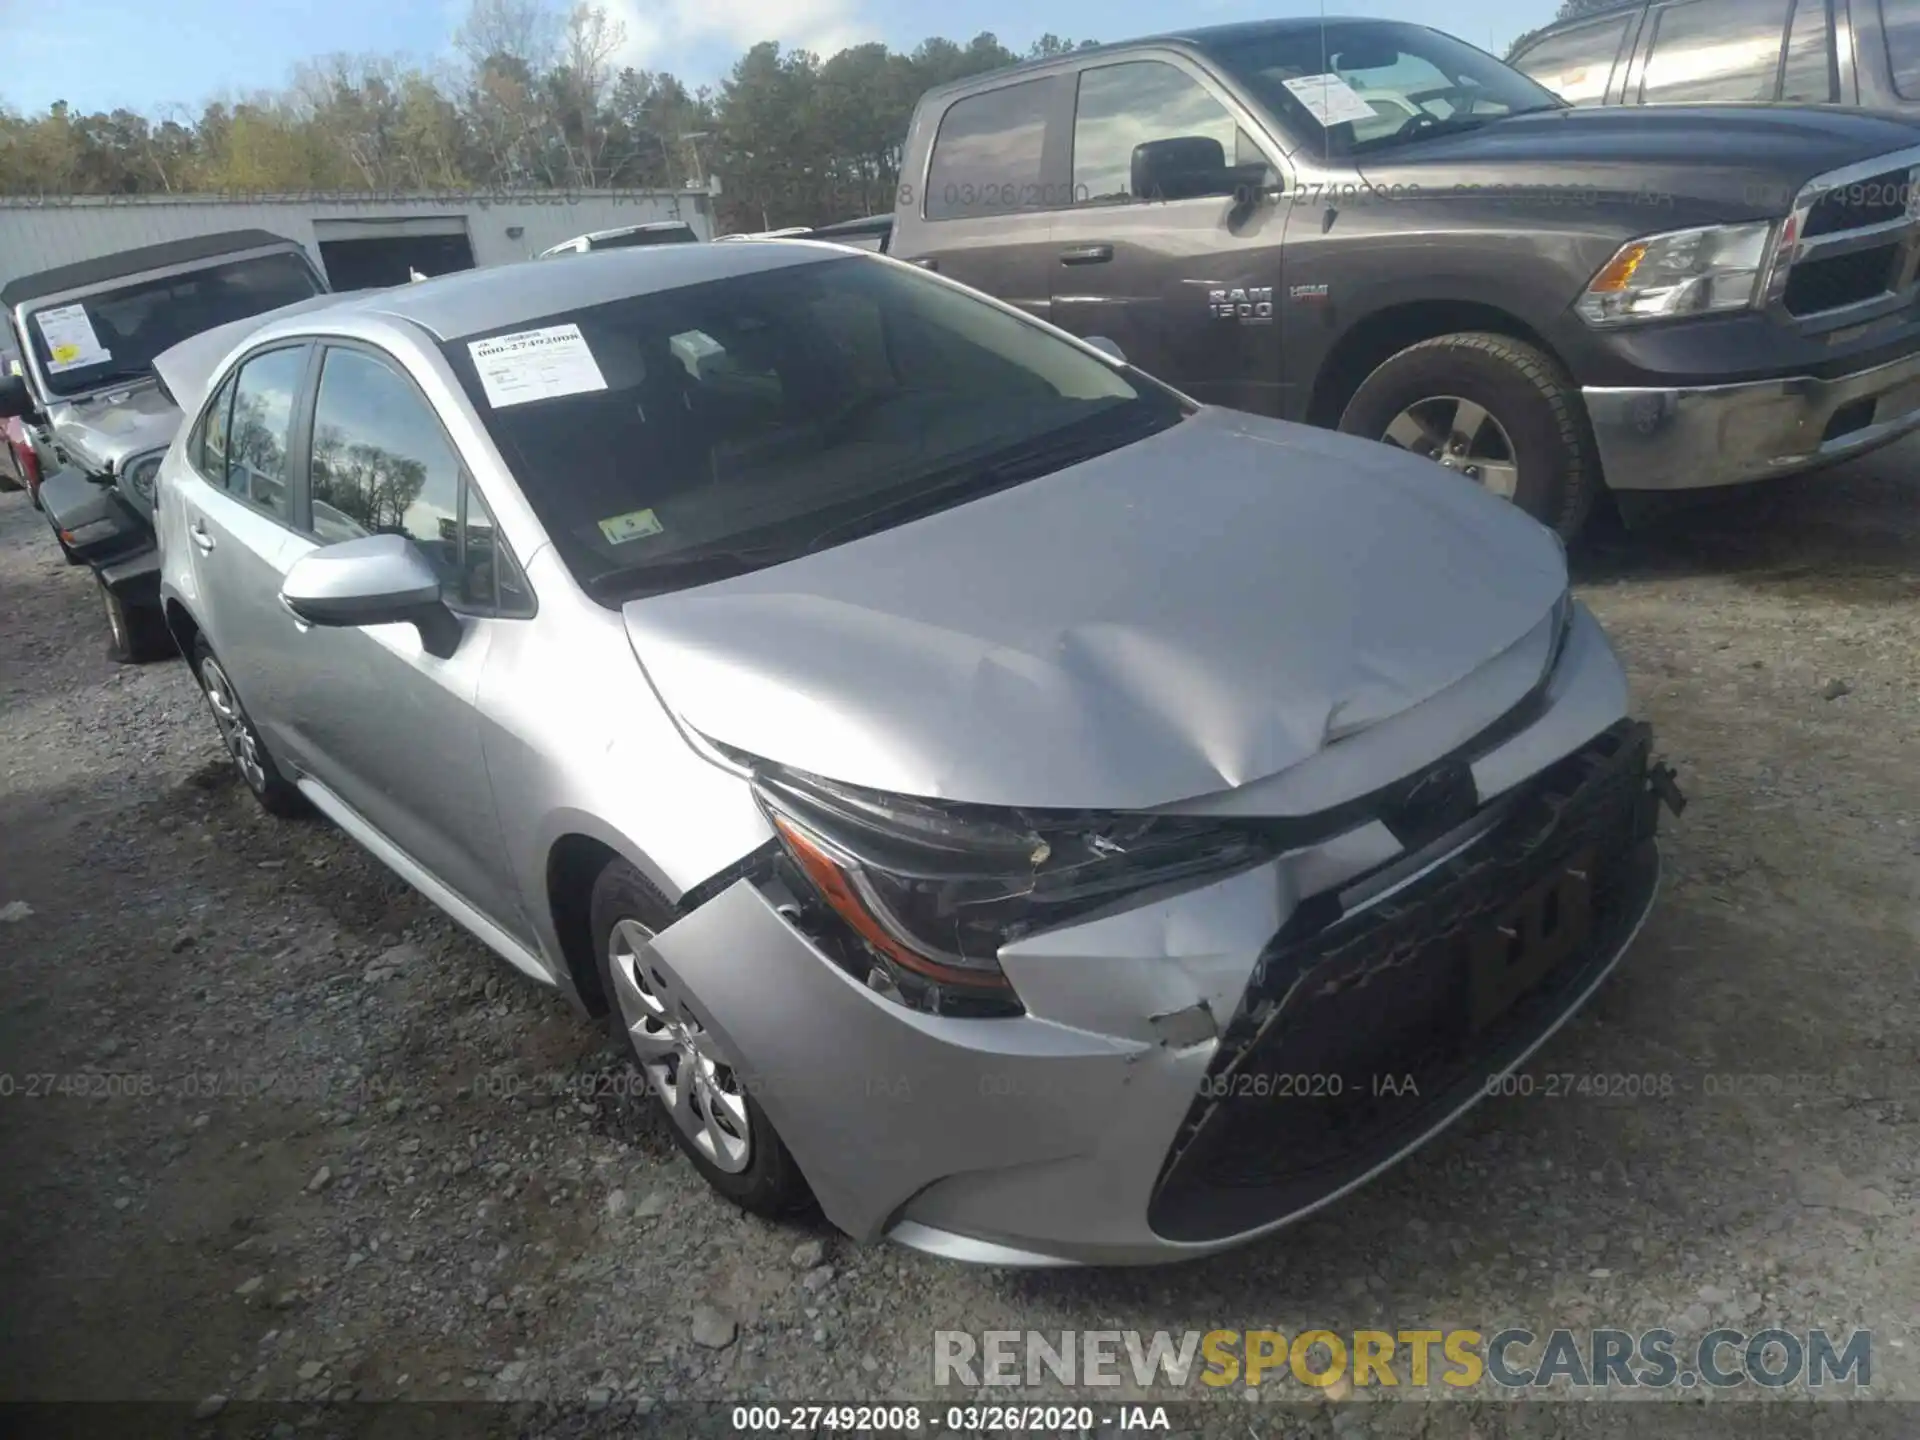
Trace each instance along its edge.
<path fill-rule="evenodd" d="M 1361 382 L 1340 415 L 1340 430 L 1384 440 L 1402 411 L 1438 396 L 1480 405 L 1505 430 L 1519 467 L 1515 505 L 1563 540 L 1580 534 L 1601 474 L 1580 392 L 1559 361 L 1503 334 L 1421 340 Z"/>

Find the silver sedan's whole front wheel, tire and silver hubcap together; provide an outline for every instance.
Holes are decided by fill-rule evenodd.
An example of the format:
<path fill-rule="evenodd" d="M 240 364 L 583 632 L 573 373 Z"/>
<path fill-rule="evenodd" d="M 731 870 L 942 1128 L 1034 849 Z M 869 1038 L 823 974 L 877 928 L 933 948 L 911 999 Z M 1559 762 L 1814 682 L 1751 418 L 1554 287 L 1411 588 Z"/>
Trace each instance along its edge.
<path fill-rule="evenodd" d="M 674 910 L 626 860 L 609 860 L 588 906 L 614 1037 L 701 1177 L 741 1210 L 778 1219 L 812 1206 L 785 1142 L 699 1016 L 687 985 L 647 954 Z"/>

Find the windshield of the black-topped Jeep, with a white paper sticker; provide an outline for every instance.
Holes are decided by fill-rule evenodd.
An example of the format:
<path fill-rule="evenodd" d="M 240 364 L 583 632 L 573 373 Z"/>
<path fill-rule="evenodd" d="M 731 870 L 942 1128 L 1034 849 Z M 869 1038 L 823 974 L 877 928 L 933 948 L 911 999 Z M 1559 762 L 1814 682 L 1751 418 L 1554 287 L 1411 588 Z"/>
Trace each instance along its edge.
<path fill-rule="evenodd" d="M 46 305 L 29 317 L 27 334 L 46 388 L 81 396 L 144 378 L 156 355 L 188 336 L 321 290 L 303 255 L 259 255 Z"/>

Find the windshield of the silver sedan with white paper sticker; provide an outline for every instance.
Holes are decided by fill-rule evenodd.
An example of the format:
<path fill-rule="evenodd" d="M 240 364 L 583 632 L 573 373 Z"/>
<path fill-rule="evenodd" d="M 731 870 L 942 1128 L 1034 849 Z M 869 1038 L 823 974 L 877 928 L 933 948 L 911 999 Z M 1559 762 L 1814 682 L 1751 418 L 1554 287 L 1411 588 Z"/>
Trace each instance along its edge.
<path fill-rule="evenodd" d="M 1025 319 L 856 255 L 444 349 L 561 559 L 603 599 L 776 564 L 1185 415 Z"/>

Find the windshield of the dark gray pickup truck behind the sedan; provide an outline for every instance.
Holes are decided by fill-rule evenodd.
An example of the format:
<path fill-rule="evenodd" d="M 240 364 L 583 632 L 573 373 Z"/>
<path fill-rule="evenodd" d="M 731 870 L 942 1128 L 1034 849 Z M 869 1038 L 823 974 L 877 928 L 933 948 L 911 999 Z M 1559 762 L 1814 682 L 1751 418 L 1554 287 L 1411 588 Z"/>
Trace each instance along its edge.
<path fill-rule="evenodd" d="M 1308 154 L 1359 156 L 1565 102 L 1452 35 L 1394 21 L 1329 21 L 1204 44 L 1300 136 Z"/>

